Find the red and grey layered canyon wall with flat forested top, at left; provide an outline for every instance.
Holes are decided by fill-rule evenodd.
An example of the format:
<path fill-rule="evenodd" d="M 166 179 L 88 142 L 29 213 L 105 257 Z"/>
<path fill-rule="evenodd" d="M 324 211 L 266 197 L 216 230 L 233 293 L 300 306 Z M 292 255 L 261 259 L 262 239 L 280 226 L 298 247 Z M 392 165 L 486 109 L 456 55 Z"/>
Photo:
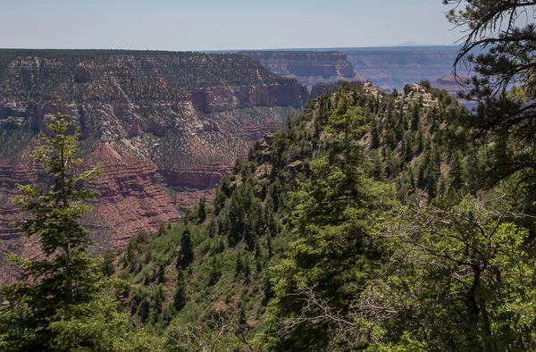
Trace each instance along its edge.
<path fill-rule="evenodd" d="M 46 182 L 29 151 L 58 97 L 82 131 L 80 155 L 102 171 L 85 222 L 100 247 L 117 249 L 210 196 L 250 142 L 297 113 L 309 93 L 239 54 L 0 51 L 2 253 L 38 255 L 9 226 L 24 215 L 9 198 L 16 183 Z"/>

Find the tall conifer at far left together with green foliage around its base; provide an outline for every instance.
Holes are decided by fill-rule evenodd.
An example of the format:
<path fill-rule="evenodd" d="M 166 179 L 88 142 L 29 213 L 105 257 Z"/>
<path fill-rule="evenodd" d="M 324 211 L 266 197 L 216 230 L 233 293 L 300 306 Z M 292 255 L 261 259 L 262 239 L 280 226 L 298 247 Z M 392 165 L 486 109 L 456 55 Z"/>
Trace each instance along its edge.
<path fill-rule="evenodd" d="M 12 256 L 22 280 L 2 288 L 0 350 L 147 350 L 146 342 L 131 344 L 143 331 L 129 331 L 128 316 L 119 312 L 115 298 L 105 294 L 114 282 L 105 279 L 114 272 L 113 257 L 106 253 L 99 261 L 88 255 L 91 240 L 80 216 L 90 210 L 85 201 L 96 197 L 84 186 L 98 171 L 94 167 L 80 172 L 80 131 L 69 135 L 70 125 L 60 110 L 32 153 L 52 185 L 18 185 L 21 196 L 13 199 L 31 214 L 16 224 L 38 243 L 42 256 L 31 261 Z"/>

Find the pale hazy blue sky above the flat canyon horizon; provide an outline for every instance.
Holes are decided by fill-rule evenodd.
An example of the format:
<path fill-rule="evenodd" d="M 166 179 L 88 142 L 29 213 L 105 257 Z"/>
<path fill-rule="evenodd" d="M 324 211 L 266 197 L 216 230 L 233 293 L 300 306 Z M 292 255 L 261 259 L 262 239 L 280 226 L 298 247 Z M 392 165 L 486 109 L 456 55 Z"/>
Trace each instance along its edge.
<path fill-rule="evenodd" d="M 451 44 L 441 0 L 0 0 L 0 47 L 231 50 Z"/>

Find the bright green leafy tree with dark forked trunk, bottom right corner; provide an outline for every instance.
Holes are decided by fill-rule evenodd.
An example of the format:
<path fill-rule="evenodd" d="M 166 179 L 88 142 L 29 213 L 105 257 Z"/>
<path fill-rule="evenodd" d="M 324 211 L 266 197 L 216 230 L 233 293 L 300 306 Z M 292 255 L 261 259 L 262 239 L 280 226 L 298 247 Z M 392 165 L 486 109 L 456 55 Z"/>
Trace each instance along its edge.
<path fill-rule="evenodd" d="M 423 350 L 534 348 L 534 261 L 527 231 L 468 197 L 452 210 L 415 208 L 385 226 L 397 247 L 356 309 L 380 343 Z M 366 326 L 363 324 L 363 326 Z M 447 328 L 448 327 L 448 328 Z"/>

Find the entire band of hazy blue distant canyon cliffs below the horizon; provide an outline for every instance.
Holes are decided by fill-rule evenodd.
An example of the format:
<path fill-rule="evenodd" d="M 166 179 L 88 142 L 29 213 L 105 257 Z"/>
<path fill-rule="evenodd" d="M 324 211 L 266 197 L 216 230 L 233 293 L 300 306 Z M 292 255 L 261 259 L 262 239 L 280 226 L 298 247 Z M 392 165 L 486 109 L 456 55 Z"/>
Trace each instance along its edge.
<path fill-rule="evenodd" d="M 317 84 L 340 80 L 361 83 L 369 80 L 382 90 L 400 91 L 407 83 L 429 80 L 438 88 L 447 85 L 449 92 L 456 93 L 457 84 L 450 76 L 458 49 L 458 46 L 386 46 L 239 53 L 259 60 L 275 74 L 297 79 L 310 90 Z M 462 75 L 467 74 L 464 67 L 459 70 Z"/>

